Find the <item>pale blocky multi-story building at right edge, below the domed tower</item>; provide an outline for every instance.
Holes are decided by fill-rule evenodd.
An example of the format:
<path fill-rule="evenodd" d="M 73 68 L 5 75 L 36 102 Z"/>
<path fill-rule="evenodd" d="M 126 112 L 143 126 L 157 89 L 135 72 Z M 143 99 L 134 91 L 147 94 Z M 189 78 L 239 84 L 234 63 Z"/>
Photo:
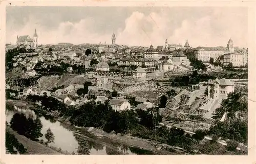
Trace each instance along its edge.
<path fill-rule="evenodd" d="M 223 65 L 227 66 L 232 63 L 232 66 L 245 66 L 248 64 L 248 53 L 245 49 L 241 52 L 224 54 Z"/>

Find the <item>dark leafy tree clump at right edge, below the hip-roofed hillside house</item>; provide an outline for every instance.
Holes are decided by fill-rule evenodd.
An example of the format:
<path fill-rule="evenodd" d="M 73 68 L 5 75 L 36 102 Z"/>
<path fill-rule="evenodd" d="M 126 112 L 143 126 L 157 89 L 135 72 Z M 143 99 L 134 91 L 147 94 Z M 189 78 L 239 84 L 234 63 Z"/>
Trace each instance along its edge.
<path fill-rule="evenodd" d="M 220 119 L 225 112 L 227 112 L 227 118 L 221 122 Z M 214 114 L 212 118 L 216 120 L 216 123 L 210 127 L 209 134 L 247 143 L 248 102 L 241 92 L 229 93 L 228 98 L 222 101 L 221 107 L 217 108 Z"/>

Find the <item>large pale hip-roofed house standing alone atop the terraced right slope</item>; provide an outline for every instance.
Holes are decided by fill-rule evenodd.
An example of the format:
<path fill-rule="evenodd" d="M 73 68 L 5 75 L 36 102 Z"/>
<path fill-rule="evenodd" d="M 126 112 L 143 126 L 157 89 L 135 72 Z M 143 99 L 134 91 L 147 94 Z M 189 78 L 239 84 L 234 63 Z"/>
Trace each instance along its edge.
<path fill-rule="evenodd" d="M 234 83 L 228 79 L 216 79 L 208 81 L 208 98 L 226 99 L 228 93 L 234 91 Z"/>

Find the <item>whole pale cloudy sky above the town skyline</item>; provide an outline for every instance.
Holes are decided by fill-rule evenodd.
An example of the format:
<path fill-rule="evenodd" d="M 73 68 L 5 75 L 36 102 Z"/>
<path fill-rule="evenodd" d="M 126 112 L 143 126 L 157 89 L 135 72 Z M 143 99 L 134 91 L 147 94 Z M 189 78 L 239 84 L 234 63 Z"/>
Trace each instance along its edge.
<path fill-rule="evenodd" d="M 248 9 L 245 7 L 39 7 L 6 8 L 6 42 L 34 34 L 38 44 L 59 42 L 116 43 L 153 46 L 247 47 Z"/>

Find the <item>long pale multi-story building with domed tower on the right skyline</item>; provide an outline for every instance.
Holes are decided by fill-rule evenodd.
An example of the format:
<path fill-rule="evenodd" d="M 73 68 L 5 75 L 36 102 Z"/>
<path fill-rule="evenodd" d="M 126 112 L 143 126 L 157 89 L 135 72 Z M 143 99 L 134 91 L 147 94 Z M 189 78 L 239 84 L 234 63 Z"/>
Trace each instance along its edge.
<path fill-rule="evenodd" d="M 224 54 L 233 53 L 233 41 L 228 40 L 227 47 L 218 46 L 218 47 L 198 47 L 195 49 L 196 59 L 201 61 L 209 61 L 210 58 L 216 60 L 218 57 Z"/>

